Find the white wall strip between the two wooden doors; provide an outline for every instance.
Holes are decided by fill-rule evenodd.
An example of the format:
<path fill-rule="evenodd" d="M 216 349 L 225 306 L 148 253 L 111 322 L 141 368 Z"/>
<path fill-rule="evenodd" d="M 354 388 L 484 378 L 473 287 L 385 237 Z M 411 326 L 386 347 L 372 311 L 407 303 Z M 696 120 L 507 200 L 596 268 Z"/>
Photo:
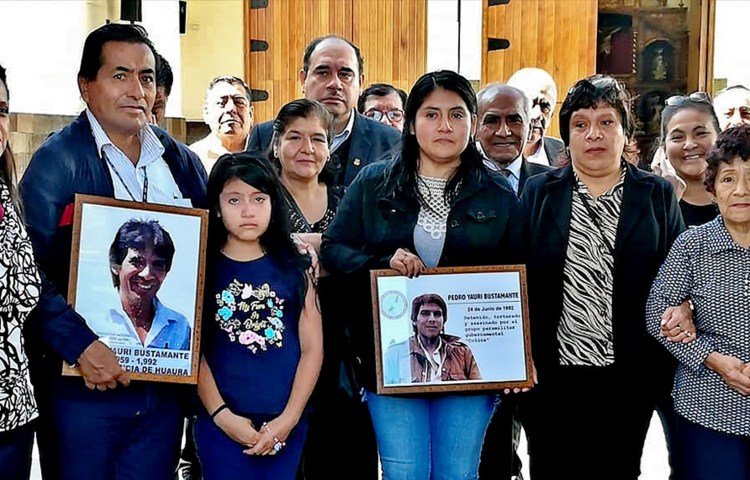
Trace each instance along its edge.
<path fill-rule="evenodd" d="M 427 71 L 458 69 L 458 1 L 427 0 Z M 482 1 L 461 1 L 461 65 L 469 80 L 482 76 Z"/>

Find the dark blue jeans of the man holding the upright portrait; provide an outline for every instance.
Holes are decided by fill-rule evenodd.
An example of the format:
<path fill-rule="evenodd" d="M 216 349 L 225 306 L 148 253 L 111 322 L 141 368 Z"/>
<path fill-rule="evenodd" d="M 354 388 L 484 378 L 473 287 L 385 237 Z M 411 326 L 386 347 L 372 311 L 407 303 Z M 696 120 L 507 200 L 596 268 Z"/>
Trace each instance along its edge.
<path fill-rule="evenodd" d="M 133 382 L 99 392 L 83 391 L 75 380 L 78 395 L 52 399 L 59 469 L 52 478 L 174 478 L 183 428 L 179 386 Z"/>

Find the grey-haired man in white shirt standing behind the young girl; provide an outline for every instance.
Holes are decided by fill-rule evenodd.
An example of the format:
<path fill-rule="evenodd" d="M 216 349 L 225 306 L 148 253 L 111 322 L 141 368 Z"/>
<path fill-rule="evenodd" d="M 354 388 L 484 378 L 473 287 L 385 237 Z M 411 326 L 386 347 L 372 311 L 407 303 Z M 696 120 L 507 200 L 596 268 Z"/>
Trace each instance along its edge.
<path fill-rule="evenodd" d="M 203 121 L 211 133 L 190 145 L 207 172 L 220 156 L 247 148 L 250 129 L 253 128 L 250 98 L 250 88 L 238 77 L 216 77 L 208 85 Z"/>

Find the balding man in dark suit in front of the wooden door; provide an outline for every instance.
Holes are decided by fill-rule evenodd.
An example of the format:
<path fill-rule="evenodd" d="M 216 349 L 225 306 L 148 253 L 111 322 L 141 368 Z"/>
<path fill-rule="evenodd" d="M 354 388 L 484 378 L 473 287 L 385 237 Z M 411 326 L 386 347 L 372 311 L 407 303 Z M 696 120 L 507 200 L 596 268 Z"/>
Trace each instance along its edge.
<path fill-rule="evenodd" d="M 299 72 L 305 98 L 326 106 L 334 120 L 330 168 L 338 185 L 349 185 L 367 164 L 386 158 L 399 143 L 399 133 L 357 112 L 365 81 L 359 48 L 336 35 L 316 38 L 305 49 Z M 248 150 L 264 152 L 273 122 L 257 125 Z"/>

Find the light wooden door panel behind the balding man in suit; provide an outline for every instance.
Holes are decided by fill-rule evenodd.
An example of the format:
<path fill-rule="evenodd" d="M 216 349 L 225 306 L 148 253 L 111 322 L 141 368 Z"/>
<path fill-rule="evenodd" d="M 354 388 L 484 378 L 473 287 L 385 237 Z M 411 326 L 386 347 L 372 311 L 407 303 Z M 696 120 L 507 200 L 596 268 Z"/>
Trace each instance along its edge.
<path fill-rule="evenodd" d="M 363 89 L 383 82 L 408 91 L 427 67 L 427 0 L 245 0 L 245 78 L 256 122 L 302 96 L 305 47 L 327 34 L 362 51 Z"/>

